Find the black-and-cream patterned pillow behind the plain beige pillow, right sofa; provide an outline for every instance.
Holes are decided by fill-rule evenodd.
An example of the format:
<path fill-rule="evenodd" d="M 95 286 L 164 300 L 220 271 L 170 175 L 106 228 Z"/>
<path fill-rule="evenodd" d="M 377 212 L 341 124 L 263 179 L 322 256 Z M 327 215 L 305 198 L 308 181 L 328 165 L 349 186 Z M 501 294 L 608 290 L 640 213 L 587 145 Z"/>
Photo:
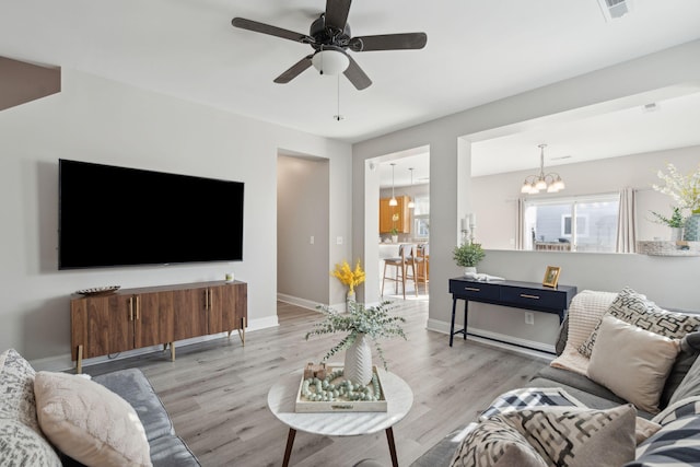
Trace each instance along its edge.
<path fill-rule="evenodd" d="M 630 288 L 625 288 L 617 295 L 607 314 L 639 328 L 675 339 L 681 339 L 686 334 L 697 330 L 700 326 L 700 316 L 662 310 L 654 302 L 646 300 L 646 296 Z M 602 319 L 591 336 L 579 346 L 579 352 L 587 358 L 591 358 L 591 352 L 593 352 L 600 322 Z"/>

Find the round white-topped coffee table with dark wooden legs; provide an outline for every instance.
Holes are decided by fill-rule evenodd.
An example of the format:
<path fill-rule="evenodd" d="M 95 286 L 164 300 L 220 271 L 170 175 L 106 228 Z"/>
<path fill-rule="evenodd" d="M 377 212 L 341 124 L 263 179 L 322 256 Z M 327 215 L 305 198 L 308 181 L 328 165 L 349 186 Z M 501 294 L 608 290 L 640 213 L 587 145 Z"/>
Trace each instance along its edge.
<path fill-rule="evenodd" d="M 289 427 L 282 466 L 289 465 L 296 430 L 326 436 L 357 436 L 385 430 L 392 465 L 398 466 L 392 427 L 406 417 L 411 409 L 413 392 L 394 373 L 380 369 L 378 375 L 387 401 L 386 412 L 295 412 L 294 405 L 302 372 L 282 376 L 267 395 L 267 405 L 275 417 Z"/>

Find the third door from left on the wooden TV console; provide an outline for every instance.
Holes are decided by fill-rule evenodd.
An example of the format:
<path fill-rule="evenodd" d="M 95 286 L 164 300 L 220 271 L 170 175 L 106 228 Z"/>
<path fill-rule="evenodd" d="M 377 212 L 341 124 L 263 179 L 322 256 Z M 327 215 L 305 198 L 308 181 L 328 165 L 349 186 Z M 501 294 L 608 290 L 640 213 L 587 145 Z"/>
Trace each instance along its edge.
<path fill-rule="evenodd" d="M 182 340 L 207 335 L 208 288 L 173 291 L 173 339 Z M 172 341 L 171 340 L 171 341 Z"/>

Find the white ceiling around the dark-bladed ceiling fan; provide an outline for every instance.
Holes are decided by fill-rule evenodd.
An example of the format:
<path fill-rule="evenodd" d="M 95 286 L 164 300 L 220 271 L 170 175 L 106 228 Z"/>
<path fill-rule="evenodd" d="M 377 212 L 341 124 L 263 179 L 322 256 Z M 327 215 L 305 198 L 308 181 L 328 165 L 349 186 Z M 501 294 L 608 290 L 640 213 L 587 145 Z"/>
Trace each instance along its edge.
<path fill-rule="evenodd" d="M 698 0 L 633 0 L 631 14 L 606 22 L 596 0 L 354 0 L 353 36 L 422 31 L 428 45 L 350 52 L 373 84 L 357 91 L 340 78 L 341 121 L 332 118 L 336 78 L 312 68 L 289 84 L 272 82 L 310 46 L 231 25 L 242 16 L 307 33 L 324 0 L 0 0 L 0 55 L 355 142 L 700 38 Z M 674 106 L 662 103 L 654 118 Z M 698 107 L 690 108 L 695 116 Z M 597 130 L 611 127 L 608 121 Z M 578 135 L 563 132 L 570 129 L 490 144 L 504 144 L 499 151 L 508 148 L 521 159 L 526 153 L 523 164 L 532 167 L 540 142 L 550 144 L 552 156 L 578 157 L 576 148 L 563 144 Z M 583 144 L 582 153 L 597 151 Z M 476 164 L 475 173 L 502 170 Z"/>

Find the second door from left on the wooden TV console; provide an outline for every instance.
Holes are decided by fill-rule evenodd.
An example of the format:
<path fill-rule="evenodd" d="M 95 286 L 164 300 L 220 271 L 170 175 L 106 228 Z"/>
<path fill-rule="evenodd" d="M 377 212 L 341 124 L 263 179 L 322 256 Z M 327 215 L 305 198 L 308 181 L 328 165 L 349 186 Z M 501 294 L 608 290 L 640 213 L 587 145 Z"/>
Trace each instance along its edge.
<path fill-rule="evenodd" d="M 175 334 L 173 292 L 140 293 L 133 301 L 135 347 L 172 342 Z"/>

